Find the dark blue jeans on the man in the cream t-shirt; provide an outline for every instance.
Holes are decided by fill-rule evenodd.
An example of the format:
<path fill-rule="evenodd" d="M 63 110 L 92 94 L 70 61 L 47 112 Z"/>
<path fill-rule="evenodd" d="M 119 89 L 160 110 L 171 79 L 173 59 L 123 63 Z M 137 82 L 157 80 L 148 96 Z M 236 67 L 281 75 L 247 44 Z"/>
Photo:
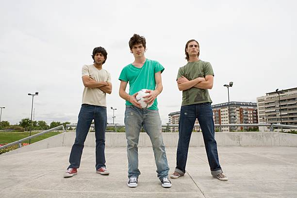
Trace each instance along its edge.
<path fill-rule="evenodd" d="M 85 138 L 94 119 L 96 137 L 96 170 L 105 167 L 105 130 L 107 124 L 106 107 L 82 104 L 76 127 L 76 138 L 72 146 L 68 168 L 79 168 Z"/>

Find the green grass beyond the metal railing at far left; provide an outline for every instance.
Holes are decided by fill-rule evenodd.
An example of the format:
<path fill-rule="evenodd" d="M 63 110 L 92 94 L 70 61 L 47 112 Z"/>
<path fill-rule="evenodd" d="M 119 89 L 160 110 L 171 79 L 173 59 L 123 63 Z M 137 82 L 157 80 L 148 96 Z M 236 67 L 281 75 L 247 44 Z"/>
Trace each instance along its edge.
<path fill-rule="evenodd" d="M 39 132 L 31 132 L 31 135 L 34 135 Z M 31 143 L 38 142 L 40 140 L 46 139 L 53 135 L 59 134 L 61 132 L 48 132 L 38 137 L 34 137 L 31 139 Z M 15 142 L 17 140 L 28 137 L 30 132 L 0 132 L 0 144 L 8 144 L 11 142 Z M 24 141 L 23 143 L 29 143 L 29 140 Z"/>

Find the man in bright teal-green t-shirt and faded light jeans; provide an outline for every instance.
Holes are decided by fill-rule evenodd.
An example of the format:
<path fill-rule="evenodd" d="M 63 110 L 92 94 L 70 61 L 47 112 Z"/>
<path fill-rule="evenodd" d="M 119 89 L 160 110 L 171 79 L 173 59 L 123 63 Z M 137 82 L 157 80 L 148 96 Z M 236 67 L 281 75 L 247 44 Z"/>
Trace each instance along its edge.
<path fill-rule="evenodd" d="M 157 61 L 148 60 L 144 53 L 146 51 L 146 39 L 143 36 L 134 34 L 129 47 L 134 56 L 134 62 L 125 66 L 119 76 L 119 95 L 126 100 L 125 111 L 125 133 L 127 138 L 128 155 L 128 183 L 129 187 L 136 187 L 140 171 L 138 169 L 138 139 L 141 127 L 148 133 L 152 143 L 158 178 L 163 187 L 171 187 L 168 179 L 168 163 L 165 153 L 165 146 L 162 137 L 162 125 L 158 112 L 157 96 L 162 92 L 161 73 L 164 67 Z M 126 87 L 129 82 L 129 94 Z M 137 92 L 141 89 L 148 89 L 146 102 L 152 104 L 149 108 L 142 108 L 136 100 Z"/>

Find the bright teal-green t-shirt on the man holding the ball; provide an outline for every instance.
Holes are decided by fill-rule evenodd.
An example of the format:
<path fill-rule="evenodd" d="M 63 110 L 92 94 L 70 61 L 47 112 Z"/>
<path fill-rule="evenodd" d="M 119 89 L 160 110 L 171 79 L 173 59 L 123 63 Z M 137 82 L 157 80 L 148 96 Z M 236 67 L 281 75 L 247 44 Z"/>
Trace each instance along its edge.
<path fill-rule="evenodd" d="M 129 95 L 133 95 L 141 89 L 156 89 L 155 73 L 164 71 L 164 67 L 157 61 L 147 59 L 141 68 L 129 64 L 125 66 L 118 78 L 120 81 L 129 82 Z M 126 100 L 126 105 L 133 105 Z M 157 98 L 149 110 L 158 110 Z"/>

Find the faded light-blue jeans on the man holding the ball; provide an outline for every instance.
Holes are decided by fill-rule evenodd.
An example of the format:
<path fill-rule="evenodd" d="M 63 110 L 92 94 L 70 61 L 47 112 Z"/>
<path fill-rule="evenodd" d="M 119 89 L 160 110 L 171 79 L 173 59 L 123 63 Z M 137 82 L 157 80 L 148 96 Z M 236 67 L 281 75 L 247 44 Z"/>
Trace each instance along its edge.
<path fill-rule="evenodd" d="M 138 169 L 138 140 L 141 127 L 148 133 L 154 151 L 157 176 L 161 180 L 168 177 L 168 163 L 162 137 L 162 125 L 158 110 L 139 109 L 126 106 L 125 131 L 127 138 L 128 177 L 140 175 Z"/>

